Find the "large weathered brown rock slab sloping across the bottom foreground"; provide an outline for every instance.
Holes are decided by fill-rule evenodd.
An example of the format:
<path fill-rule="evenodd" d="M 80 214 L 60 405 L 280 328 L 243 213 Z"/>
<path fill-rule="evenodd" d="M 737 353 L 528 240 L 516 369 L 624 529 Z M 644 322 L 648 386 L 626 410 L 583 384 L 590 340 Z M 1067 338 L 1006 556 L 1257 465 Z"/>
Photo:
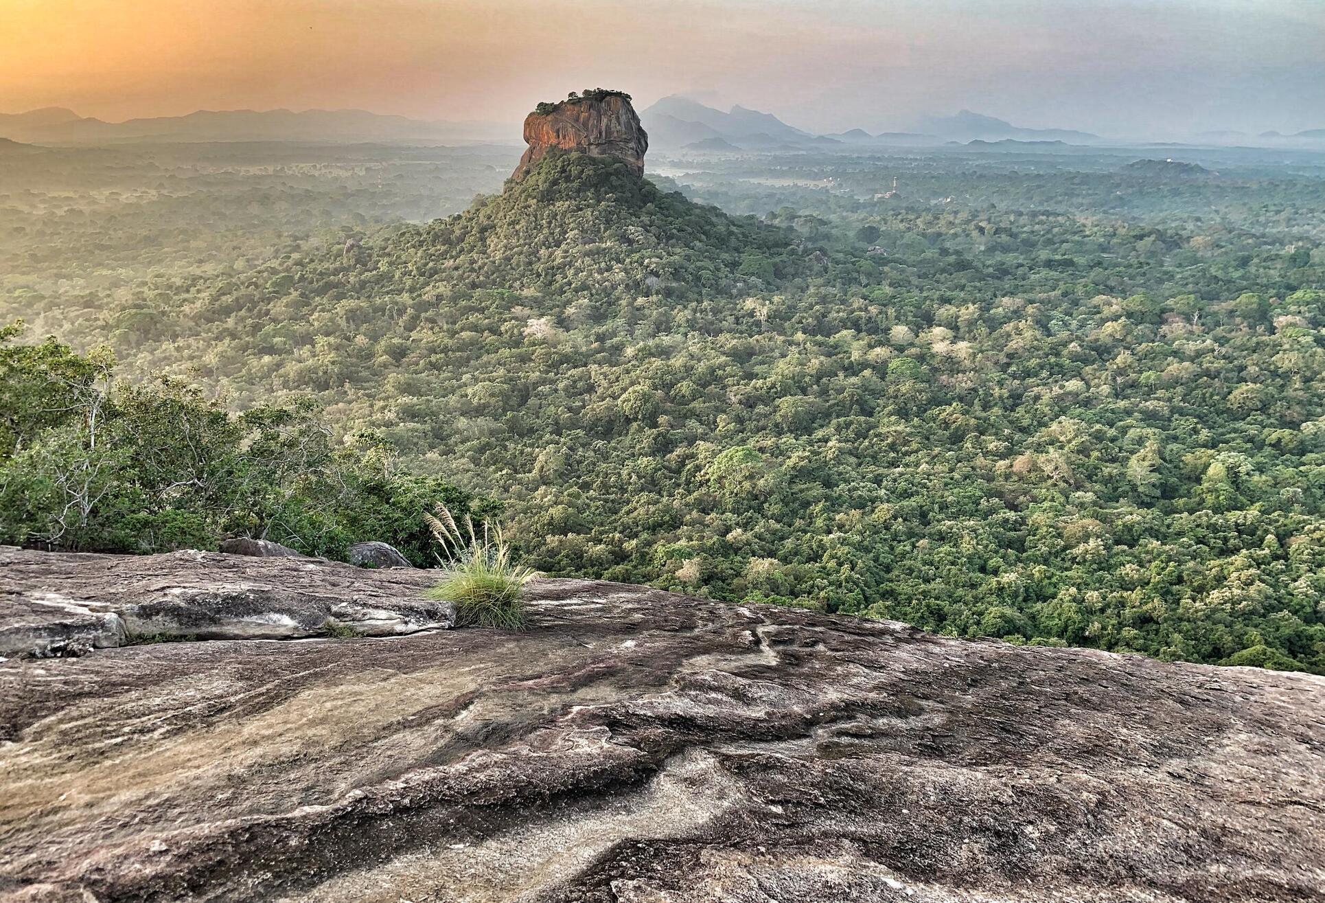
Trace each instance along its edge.
<path fill-rule="evenodd" d="M 522 634 L 4 663 L 0 899 L 1325 899 L 1318 678 L 531 595 Z"/>

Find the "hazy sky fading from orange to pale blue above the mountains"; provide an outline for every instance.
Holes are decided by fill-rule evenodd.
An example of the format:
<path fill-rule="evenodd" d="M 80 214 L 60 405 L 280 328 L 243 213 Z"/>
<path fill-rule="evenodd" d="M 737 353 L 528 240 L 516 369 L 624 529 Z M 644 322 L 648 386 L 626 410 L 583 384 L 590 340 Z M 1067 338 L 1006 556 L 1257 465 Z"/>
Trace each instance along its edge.
<path fill-rule="evenodd" d="M 1325 0 L 0 0 L 0 113 L 518 122 L 686 94 L 811 131 L 970 109 L 1110 137 L 1325 127 Z"/>

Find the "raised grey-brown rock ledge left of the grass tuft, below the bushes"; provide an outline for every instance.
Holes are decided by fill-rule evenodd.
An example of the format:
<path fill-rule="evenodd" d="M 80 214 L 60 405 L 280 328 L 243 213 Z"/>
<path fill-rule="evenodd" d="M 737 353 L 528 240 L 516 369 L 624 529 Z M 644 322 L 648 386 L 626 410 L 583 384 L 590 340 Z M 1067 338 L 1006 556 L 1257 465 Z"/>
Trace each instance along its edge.
<path fill-rule="evenodd" d="M 388 636 L 450 627 L 454 607 L 416 570 L 367 578 L 321 558 L 207 552 L 0 552 L 0 656 L 53 658 L 178 639 Z"/>

